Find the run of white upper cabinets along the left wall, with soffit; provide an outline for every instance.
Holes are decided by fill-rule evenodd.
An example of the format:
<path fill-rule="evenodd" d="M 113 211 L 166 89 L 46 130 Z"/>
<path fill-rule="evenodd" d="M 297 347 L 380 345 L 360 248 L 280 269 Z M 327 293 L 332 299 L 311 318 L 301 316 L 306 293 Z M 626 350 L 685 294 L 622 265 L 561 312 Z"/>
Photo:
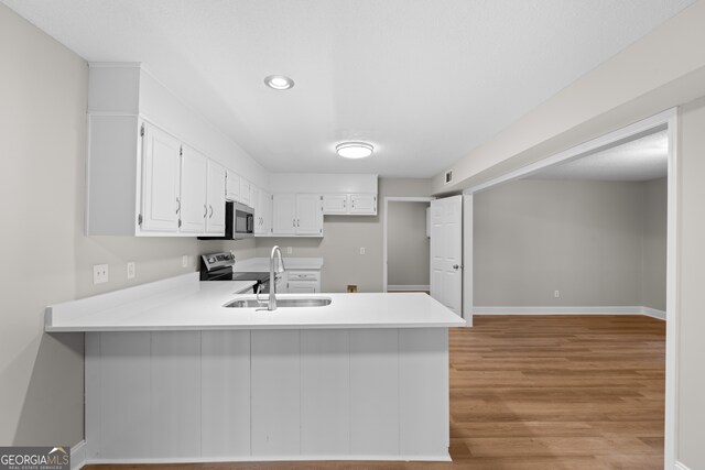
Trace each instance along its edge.
<path fill-rule="evenodd" d="M 88 73 L 86 233 L 225 233 L 226 195 L 249 203 L 242 172 L 264 181 L 265 171 L 139 65 L 91 63 Z"/>

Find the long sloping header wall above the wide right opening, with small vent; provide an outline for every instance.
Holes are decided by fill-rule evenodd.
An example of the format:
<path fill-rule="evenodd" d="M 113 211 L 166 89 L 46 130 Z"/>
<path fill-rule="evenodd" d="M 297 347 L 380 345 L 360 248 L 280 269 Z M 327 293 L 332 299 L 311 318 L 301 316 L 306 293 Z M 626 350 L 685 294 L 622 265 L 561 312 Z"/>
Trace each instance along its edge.
<path fill-rule="evenodd" d="M 705 96 L 705 0 L 577 79 L 433 177 L 460 190 Z"/>

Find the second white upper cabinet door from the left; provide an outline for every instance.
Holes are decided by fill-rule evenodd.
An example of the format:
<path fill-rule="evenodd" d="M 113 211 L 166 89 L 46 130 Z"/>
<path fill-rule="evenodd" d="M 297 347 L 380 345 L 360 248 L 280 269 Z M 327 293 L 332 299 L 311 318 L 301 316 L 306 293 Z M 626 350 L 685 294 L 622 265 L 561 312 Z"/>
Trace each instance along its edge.
<path fill-rule="evenodd" d="M 187 146 L 181 164 L 181 231 L 203 233 L 206 230 L 208 159 Z"/>

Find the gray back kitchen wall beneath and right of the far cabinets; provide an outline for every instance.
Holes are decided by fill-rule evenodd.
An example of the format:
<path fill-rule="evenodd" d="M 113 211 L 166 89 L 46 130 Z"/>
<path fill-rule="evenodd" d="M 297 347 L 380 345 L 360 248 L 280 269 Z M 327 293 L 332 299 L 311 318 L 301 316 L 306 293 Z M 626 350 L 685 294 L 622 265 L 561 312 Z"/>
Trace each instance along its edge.
<path fill-rule="evenodd" d="M 429 196 L 430 179 L 380 178 L 377 216 L 325 216 L 324 238 L 260 238 L 257 254 L 269 256 L 274 244 L 292 247 L 285 256 L 322 256 L 324 292 L 345 292 L 356 284 L 359 292 L 381 292 L 382 286 L 382 217 L 384 196 Z M 360 254 L 360 248 L 366 254 Z"/>

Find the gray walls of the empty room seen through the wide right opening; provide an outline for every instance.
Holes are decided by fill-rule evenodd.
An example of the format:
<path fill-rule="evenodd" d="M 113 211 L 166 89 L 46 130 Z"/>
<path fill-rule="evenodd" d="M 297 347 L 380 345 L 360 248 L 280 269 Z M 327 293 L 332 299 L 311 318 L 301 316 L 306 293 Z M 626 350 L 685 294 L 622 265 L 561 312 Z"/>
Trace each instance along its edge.
<path fill-rule="evenodd" d="M 665 309 L 665 186 L 524 179 L 477 194 L 475 305 Z"/>

